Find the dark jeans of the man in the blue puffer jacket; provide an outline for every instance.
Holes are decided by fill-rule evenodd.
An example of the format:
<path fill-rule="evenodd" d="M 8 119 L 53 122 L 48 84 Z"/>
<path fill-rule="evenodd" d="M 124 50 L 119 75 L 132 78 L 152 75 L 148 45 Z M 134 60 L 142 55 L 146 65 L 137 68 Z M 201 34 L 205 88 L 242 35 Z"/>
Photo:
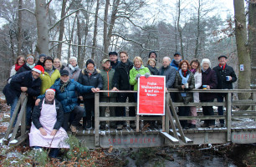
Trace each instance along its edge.
<path fill-rule="evenodd" d="M 79 121 L 82 119 L 83 114 L 84 114 L 84 109 L 81 108 L 80 106 L 76 105 L 74 107 L 74 109 L 71 111 L 72 114 L 74 114 L 74 120 L 72 121 L 72 125 L 77 126 L 79 124 Z M 63 124 L 62 127 L 67 131 L 69 129 L 69 118 L 70 118 L 70 114 L 69 113 L 64 113 L 64 120 L 63 120 Z"/>

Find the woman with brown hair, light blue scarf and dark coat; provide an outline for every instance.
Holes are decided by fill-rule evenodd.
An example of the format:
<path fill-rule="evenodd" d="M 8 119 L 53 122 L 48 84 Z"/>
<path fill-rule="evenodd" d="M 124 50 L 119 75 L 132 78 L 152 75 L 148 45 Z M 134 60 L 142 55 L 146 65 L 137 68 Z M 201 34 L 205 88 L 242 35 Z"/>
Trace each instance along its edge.
<path fill-rule="evenodd" d="M 181 93 L 177 94 L 177 102 L 183 102 L 184 104 L 193 102 L 193 94 L 187 92 L 187 90 L 195 88 L 195 78 L 193 73 L 189 70 L 190 68 L 190 64 L 187 60 L 182 60 L 179 64 L 179 70 L 177 71 L 174 83 L 175 89 L 182 90 Z M 180 106 L 178 110 L 179 116 L 188 116 L 190 107 Z M 188 129 L 187 120 L 180 120 L 180 123 L 183 129 Z"/>

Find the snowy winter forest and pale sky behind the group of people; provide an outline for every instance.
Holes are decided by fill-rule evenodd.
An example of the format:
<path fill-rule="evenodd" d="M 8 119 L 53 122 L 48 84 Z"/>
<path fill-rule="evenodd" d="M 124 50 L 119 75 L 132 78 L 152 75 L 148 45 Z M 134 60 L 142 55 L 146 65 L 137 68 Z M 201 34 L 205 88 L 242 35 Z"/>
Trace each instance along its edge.
<path fill-rule="evenodd" d="M 40 53 L 46 53 L 64 63 L 74 56 L 80 68 L 84 68 L 88 58 L 93 58 L 99 68 L 100 61 L 110 51 L 122 50 L 129 53 L 131 60 L 140 56 L 144 63 L 154 50 L 158 66 L 163 57 L 172 58 L 176 51 L 182 53 L 183 59 L 209 58 L 212 67 L 218 64 L 219 55 L 227 55 L 228 64 L 238 75 L 239 64 L 245 66 L 247 79 L 243 78 L 244 83 L 240 84 L 238 80 L 238 87 L 255 86 L 255 0 L 0 0 L 0 3 L 0 89 L 19 54 L 33 53 L 38 58 Z M 240 9 L 234 8 L 236 3 Z M 244 17 L 242 21 L 235 17 L 238 10 Z M 244 41 L 238 40 L 241 29 L 246 33 Z M 242 42 L 243 52 L 239 51 L 237 41 Z"/>

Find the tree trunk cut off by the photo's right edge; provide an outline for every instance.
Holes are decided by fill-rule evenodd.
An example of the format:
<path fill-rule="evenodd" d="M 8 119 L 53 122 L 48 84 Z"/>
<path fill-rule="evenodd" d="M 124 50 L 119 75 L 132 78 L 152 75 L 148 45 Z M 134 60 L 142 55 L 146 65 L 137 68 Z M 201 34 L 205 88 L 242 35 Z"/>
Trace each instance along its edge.
<path fill-rule="evenodd" d="M 250 1 L 248 3 L 248 43 L 251 54 L 251 84 L 256 89 L 256 3 Z"/>

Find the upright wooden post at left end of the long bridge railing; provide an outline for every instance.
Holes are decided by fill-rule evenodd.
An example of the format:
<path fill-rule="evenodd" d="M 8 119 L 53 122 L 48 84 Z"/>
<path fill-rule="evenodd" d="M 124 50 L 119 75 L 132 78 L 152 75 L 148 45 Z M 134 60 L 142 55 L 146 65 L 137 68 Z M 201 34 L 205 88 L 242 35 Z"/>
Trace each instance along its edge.
<path fill-rule="evenodd" d="M 100 136 L 99 136 L 99 116 L 100 116 L 100 93 L 95 93 L 95 146 L 100 146 Z"/>

